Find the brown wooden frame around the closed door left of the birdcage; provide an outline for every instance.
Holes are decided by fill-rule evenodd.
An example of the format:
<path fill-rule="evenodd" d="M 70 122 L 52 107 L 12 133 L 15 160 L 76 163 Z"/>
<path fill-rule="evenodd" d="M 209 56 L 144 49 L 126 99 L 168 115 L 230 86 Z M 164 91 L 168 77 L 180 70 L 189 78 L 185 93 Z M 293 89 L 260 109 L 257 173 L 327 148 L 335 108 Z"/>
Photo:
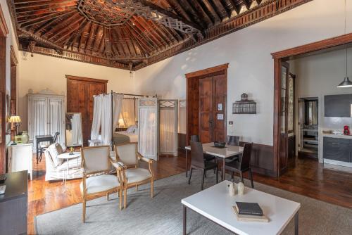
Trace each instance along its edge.
<path fill-rule="evenodd" d="M 191 138 L 191 134 L 189 133 L 189 80 L 191 79 L 201 79 L 202 77 L 206 77 L 207 75 L 213 75 L 219 72 L 223 72 L 225 75 L 226 83 L 227 83 L 227 68 L 229 68 L 229 63 L 225 63 L 223 65 L 218 65 L 212 68 L 206 68 L 204 70 L 199 70 L 196 72 L 189 72 L 185 74 L 187 79 L 186 85 L 186 144 L 189 145 L 189 139 Z M 225 100 L 225 106 L 227 106 L 227 99 Z M 226 107 L 227 108 L 227 107 Z M 224 113 L 224 125 L 225 125 L 225 136 L 227 136 L 226 122 L 227 122 L 227 111 Z"/>

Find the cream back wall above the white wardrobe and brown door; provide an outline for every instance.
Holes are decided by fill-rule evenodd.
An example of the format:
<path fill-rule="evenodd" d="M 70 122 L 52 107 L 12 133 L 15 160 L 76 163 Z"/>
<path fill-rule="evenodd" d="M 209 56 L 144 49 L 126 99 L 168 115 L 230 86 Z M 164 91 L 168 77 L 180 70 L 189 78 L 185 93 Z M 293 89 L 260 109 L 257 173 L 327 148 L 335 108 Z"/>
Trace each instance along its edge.
<path fill-rule="evenodd" d="M 28 89 L 34 93 L 49 88 L 57 94 L 66 95 L 65 75 L 91 77 L 108 80 L 108 91 L 134 93 L 134 74 L 127 70 L 70 61 L 52 56 L 42 56 L 20 51 L 20 79 L 18 82 L 18 114 L 23 122 L 20 130 L 27 129 L 27 96 Z"/>

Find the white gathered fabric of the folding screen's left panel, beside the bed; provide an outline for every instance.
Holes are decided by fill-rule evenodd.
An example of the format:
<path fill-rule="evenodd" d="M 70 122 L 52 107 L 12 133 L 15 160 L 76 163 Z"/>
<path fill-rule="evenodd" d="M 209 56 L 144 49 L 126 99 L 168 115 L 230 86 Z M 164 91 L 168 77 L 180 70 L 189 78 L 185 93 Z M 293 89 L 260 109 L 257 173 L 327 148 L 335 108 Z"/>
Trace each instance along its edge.
<path fill-rule="evenodd" d="M 156 156 L 157 117 L 156 108 L 139 109 L 139 153 L 146 157 Z"/>

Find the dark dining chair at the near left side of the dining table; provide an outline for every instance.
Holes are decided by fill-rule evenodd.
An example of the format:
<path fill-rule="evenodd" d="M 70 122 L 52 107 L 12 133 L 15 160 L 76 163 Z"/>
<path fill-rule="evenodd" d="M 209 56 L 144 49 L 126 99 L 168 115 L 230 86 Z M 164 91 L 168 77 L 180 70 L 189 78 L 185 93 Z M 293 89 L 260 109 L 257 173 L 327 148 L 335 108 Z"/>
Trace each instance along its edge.
<path fill-rule="evenodd" d="M 218 164 L 205 160 L 202 144 L 200 142 L 191 141 L 191 171 L 189 172 L 188 184 L 191 184 L 191 176 L 194 169 L 201 170 L 203 173 L 201 190 L 203 190 L 204 177 L 206 177 L 207 170 L 216 171 L 216 184 L 218 184 Z"/>

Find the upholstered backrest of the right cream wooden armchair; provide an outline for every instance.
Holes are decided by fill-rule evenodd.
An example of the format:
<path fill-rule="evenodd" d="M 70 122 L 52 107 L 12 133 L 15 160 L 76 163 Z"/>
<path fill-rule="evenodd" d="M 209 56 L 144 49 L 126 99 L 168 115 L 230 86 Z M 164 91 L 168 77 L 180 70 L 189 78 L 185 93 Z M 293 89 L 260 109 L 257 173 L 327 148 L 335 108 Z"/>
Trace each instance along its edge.
<path fill-rule="evenodd" d="M 115 146 L 116 159 L 127 167 L 138 164 L 137 143 L 119 144 Z"/>

